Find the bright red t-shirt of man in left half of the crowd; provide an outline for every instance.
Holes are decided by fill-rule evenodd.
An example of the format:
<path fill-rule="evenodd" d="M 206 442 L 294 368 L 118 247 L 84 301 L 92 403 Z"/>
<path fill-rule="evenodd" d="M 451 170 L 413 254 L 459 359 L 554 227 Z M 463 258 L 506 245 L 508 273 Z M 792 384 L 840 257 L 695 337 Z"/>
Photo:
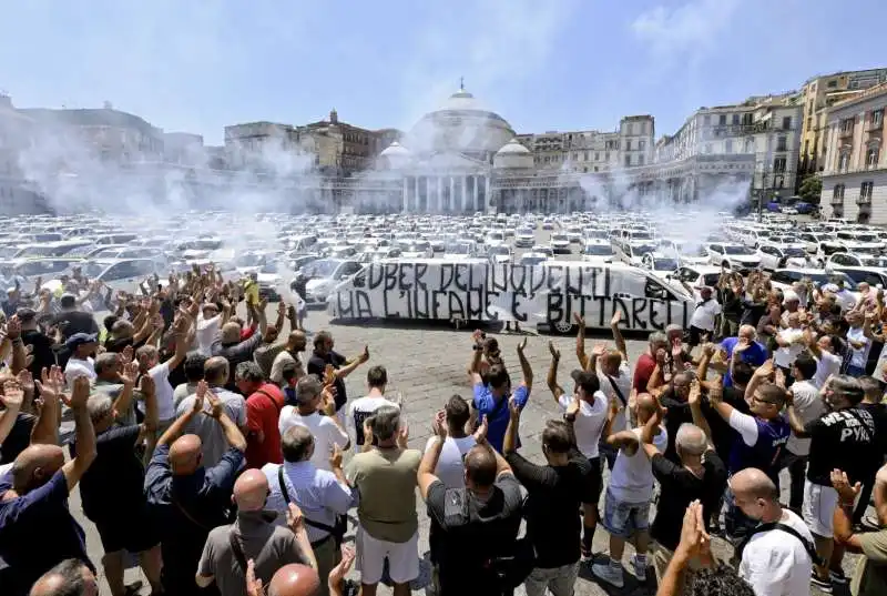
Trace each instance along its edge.
<path fill-rule="evenodd" d="M 277 385 L 265 383 L 246 398 L 246 467 L 283 464 L 281 430 L 277 421 L 284 406 L 284 394 Z"/>

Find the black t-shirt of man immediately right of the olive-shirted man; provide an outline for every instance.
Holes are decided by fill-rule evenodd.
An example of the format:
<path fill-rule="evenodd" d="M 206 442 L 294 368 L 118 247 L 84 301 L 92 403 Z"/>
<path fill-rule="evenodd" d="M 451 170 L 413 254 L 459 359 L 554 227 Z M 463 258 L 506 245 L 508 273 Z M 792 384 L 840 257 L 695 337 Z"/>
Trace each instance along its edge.
<path fill-rule="evenodd" d="M 437 481 L 428 487 L 428 513 L 439 524 L 440 584 L 446 594 L 496 594 L 486 565 L 511 555 L 521 522 L 523 497 L 511 474 L 501 475 L 487 501 L 465 488 L 447 489 Z M 573 513 L 578 515 L 578 509 Z"/>

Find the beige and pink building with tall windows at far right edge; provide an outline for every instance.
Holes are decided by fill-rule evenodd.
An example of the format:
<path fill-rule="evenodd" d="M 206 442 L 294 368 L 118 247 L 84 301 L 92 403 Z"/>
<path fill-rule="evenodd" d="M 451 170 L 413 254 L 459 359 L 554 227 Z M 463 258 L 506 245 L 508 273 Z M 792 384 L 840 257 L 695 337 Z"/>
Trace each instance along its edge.
<path fill-rule="evenodd" d="M 828 110 L 819 201 L 825 216 L 887 224 L 886 110 L 887 83 Z"/>

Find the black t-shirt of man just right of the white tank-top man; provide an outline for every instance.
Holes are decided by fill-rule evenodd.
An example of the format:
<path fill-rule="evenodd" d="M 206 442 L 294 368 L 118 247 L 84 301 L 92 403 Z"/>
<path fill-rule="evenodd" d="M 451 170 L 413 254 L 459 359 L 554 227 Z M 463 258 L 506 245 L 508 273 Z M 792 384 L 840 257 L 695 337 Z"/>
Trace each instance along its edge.
<path fill-rule="evenodd" d="M 652 462 L 653 476 L 662 486 L 662 492 L 650 532 L 657 543 L 674 550 L 681 542 L 684 513 L 693 501 L 700 499 L 702 503 L 703 519 L 707 526 L 710 514 L 717 511 L 721 495 L 724 494 L 727 468 L 713 449 L 705 452 L 702 464 L 705 472 L 701 478 L 662 454 L 654 455 Z"/>

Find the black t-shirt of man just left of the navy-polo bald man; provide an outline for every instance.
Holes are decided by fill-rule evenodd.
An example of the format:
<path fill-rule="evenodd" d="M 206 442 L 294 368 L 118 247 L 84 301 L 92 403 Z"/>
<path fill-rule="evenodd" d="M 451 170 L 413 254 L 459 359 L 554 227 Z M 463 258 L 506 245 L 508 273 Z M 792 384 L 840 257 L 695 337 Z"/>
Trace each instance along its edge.
<path fill-rule="evenodd" d="M 139 425 L 112 426 L 95 436 L 95 461 L 80 479 L 83 513 L 93 522 L 124 519 L 128 511 L 145 502 L 145 471 L 135 455 Z M 71 444 L 77 457 L 77 444 Z"/>

